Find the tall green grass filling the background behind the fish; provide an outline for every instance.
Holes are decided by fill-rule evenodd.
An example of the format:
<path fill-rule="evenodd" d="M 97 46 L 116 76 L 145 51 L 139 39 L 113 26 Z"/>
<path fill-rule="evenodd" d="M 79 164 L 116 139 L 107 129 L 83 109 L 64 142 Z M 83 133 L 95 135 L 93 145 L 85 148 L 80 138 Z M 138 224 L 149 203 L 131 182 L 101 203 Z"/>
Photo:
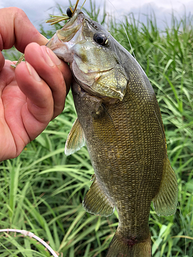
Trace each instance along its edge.
<path fill-rule="evenodd" d="M 131 53 L 122 24 L 90 2 L 85 14 L 108 28 Z M 65 13 L 58 6 L 61 13 Z M 153 207 L 149 227 L 152 256 L 192 257 L 193 249 L 193 23 L 192 16 L 181 20 L 172 15 L 171 24 L 160 31 L 153 15 L 147 24 L 131 13 L 122 22 L 136 60 L 145 70 L 159 101 L 166 131 L 168 155 L 179 183 L 179 208 L 169 217 L 158 217 Z M 50 38 L 62 26 L 40 31 Z M 4 51 L 17 60 L 15 51 Z M 118 219 L 86 213 L 82 199 L 89 189 L 93 168 L 86 148 L 64 155 L 64 145 L 76 118 L 72 94 L 63 113 L 28 144 L 16 159 L 0 164 L 0 228 L 33 232 L 63 257 L 104 257 Z M 33 238 L 0 234 L 0 255 L 50 256 Z"/>

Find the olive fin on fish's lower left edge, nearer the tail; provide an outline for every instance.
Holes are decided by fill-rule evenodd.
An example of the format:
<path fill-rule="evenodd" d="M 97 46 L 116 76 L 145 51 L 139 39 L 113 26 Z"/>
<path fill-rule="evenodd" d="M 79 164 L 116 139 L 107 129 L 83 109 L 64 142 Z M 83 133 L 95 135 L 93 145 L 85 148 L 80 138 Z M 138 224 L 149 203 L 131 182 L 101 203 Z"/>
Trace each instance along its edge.
<path fill-rule="evenodd" d="M 95 178 L 89 191 L 86 193 L 82 206 L 85 211 L 101 216 L 110 216 L 113 214 L 115 207 L 109 200 L 108 196 L 98 185 Z"/>

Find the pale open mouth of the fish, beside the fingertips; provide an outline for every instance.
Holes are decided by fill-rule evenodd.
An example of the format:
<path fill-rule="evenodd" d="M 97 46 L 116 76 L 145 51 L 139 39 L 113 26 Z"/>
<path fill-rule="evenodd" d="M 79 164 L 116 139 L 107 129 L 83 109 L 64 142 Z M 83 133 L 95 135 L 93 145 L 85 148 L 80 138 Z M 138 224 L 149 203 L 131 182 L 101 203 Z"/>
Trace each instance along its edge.
<path fill-rule="evenodd" d="M 82 33 L 82 27 L 85 16 L 81 10 L 77 9 L 71 20 L 69 20 L 62 29 L 56 31 L 56 34 L 52 36 L 50 41 L 46 44 L 52 51 L 69 43 L 70 47 L 78 43 L 80 34 Z"/>

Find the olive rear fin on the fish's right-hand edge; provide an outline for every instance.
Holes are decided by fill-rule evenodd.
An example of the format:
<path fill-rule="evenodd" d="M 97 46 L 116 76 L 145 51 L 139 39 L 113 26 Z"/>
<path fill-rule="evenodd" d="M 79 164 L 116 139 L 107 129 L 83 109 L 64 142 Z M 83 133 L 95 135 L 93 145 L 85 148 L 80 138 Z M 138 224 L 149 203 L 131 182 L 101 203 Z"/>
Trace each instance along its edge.
<path fill-rule="evenodd" d="M 169 216 L 176 213 L 178 204 L 178 182 L 170 162 L 165 159 L 159 192 L 153 198 L 153 207 L 158 216 Z"/>

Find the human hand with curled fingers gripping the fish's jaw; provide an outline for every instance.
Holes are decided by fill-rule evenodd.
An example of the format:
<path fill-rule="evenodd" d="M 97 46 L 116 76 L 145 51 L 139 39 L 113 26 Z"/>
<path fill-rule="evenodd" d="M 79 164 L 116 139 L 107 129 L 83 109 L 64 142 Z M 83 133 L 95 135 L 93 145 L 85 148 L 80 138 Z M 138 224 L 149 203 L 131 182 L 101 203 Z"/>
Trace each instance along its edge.
<path fill-rule="evenodd" d="M 0 9 L 0 19 L 0 49 L 13 45 L 21 52 L 25 49 L 26 60 L 14 69 L 10 65 L 16 62 L 5 60 L 0 51 L 2 161 L 18 156 L 63 111 L 72 74 L 68 65 L 45 46 L 48 40 L 21 9 Z"/>

